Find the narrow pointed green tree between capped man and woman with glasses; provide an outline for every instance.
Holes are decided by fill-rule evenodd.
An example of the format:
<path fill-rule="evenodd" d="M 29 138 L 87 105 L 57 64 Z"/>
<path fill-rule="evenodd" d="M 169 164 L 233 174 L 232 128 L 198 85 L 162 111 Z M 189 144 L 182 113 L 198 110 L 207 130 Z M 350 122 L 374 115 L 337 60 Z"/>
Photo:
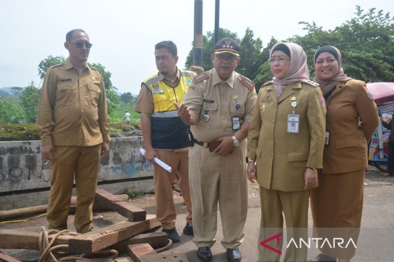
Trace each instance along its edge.
<path fill-rule="evenodd" d="M 260 37 L 254 39 L 253 30 L 247 28 L 240 46 L 241 62 L 236 71 L 253 80 L 259 73 L 260 65 L 264 62 L 262 59 L 263 42 Z"/>

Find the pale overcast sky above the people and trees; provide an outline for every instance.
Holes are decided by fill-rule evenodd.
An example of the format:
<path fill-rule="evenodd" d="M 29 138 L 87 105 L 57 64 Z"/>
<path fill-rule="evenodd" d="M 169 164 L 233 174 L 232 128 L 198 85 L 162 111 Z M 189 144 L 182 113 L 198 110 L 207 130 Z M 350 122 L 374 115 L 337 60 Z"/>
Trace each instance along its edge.
<path fill-rule="evenodd" d="M 220 27 L 239 38 L 249 27 L 265 47 L 272 36 L 304 35 L 300 21 L 334 29 L 355 16 L 356 5 L 394 15 L 393 0 L 221 0 Z M 214 29 L 214 13 L 215 0 L 203 0 L 204 34 Z M 26 87 L 32 80 L 41 86 L 40 60 L 67 57 L 66 32 L 81 28 L 93 43 L 89 61 L 105 66 L 120 92 L 138 94 L 141 81 L 157 72 L 156 43 L 174 41 L 184 68 L 194 0 L 0 0 L 0 19 L 0 87 Z"/>

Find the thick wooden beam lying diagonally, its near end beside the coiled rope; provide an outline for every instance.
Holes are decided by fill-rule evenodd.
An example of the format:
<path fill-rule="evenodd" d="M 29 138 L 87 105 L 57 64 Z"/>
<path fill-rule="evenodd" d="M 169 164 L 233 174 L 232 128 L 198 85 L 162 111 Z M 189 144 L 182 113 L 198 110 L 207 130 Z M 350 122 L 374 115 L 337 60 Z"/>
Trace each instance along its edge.
<path fill-rule="evenodd" d="M 68 249 L 71 253 L 92 253 L 125 240 L 136 234 L 159 227 L 156 215 L 147 215 L 145 221 L 123 221 L 69 239 Z"/>

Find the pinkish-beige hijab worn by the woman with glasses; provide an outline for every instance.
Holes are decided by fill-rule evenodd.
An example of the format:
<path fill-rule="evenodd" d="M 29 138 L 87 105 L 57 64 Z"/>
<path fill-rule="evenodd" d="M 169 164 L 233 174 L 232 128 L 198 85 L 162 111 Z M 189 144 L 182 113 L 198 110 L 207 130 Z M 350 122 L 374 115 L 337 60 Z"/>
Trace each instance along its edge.
<path fill-rule="evenodd" d="M 285 45 L 290 51 L 289 73 L 285 76 L 285 78 L 282 79 L 278 79 L 276 77 L 272 78 L 272 83 L 274 84 L 277 98 L 279 99 L 287 85 L 301 80 L 309 80 L 309 70 L 308 65 L 306 64 L 306 54 L 304 50 L 295 43 L 275 44 L 269 52 L 269 57 L 272 57 L 272 51 L 275 50 L 275 47 L 278 45 Z"/>

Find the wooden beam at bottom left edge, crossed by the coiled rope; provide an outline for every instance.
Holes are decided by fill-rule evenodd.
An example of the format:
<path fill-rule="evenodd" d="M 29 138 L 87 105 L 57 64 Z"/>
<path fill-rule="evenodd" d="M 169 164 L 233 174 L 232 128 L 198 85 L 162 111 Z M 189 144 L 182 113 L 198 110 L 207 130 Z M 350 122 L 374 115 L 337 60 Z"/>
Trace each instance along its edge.
<path fill-rule="evenodd" d="M 39 250 L 38 237 L 39 233 L 36 232 L 0 229 L 0 248 Z M 73 237 L 75 236 L 61 235 L 56 238 L 54 245 L 68 244 L 68 239 Z M 51 235 L 48 238 L 50 241 Z"/>

